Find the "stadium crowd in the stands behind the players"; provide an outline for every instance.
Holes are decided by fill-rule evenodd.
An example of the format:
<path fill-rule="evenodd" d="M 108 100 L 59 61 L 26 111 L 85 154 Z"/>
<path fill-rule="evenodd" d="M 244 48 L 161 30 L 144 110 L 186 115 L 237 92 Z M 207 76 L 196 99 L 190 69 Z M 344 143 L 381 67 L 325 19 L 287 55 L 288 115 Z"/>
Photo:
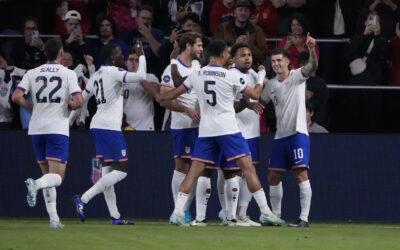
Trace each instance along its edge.
<path fill-rule="evenodd" d="M 46 59 L 47 37 L 59 35 L 66 51 L 63 65 L 73 69 L 82 89 L 103 63 L 101 51 L 109 43 L 122 51 L 129 69 L 130 48 L 143 43 L 147 71 L 152 82 L 160 82 L 164 69 L 178 54 L 177 41 L 187 32 L 202 35 L 204 47 L 211 38 L 231 45 L 249 44 L 254 67 L 264 65 L 272 77 L 270 52 L 285 48 L 292 69 L 307 61 L 306 34 L 317 39 L 350 42 L 320 42 L 316 50 L 320 66 L 307 80 L 306 96 L 312 107 L 312 122 L 329 126 L 327 83 L 355 85 L 400 85 L 399 0 L 68 0 L 0 1 L 0 128 L 27 128 L 29 112 L 13 104 L 10 97 L 25 72 Z M 22 8 L 23 7 L 23 8 Z M 18 13 L 10 16 L 9 13 Z M 12 35 L 22 35 L 13 38 Z M 95 36 L 93 36 L 95 35 Z M 132 61 L 136 60 L 132 55 Z M 132 70 L 134 70 L 132 68 Z M 129 91 L 125 99 L 128 99 Z M 165 112 L 145 89 L 137 89 L 139 100 L 125 105 L 139 110 L 134 119 L 125 117 L 125 127 L 161 130 Z M 365 95 L 365 99 L 379 98 Z M 353 103 L 358 99 L 350 100 Z M 373 105 L 371 105 L 373 106 Z M 85 125 L 96 111 L 89 101 Z M 376 110 L 376 107 L 370 107 Z M 376 112 L 379 112 L 376 110 Z M 139 125 L 143 120 L 146 125 Z M 273 106 L 267 106 L 261 132 L 275 130 Z M 138 121 L 139 120 L 139 121 Z M 135 124 L 134 124 L 135 123 Z"/>

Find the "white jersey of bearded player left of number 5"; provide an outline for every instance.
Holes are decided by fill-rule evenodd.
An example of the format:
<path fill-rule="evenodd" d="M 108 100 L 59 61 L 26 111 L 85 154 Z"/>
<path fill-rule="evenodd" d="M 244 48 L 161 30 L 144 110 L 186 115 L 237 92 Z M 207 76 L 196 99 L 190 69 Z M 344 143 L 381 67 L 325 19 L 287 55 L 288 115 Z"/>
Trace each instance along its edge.
<path fill-rule="evenodd" d="M 191 67 L 184 65 L 179 59 L 177 61 L 178 71 L 182 77 L 188 76 L 193 71 L 200 69 L 200 63 L 197 60 L 192 61 Z M 161 86 L 175 88 L 171 77 L 171 65 L 168 65 L 168 67 L 164 70 L 164 73 L 161 77 Z M 194 90 L 189 90 L 187 93 L 182 94 L 177 98 L 177 100 L 186 107 L 198 110 L 197 96 Z M 199 125 L 186 114 L 171 111 L 172 129 L 196 128 L 198 126 Z"/>

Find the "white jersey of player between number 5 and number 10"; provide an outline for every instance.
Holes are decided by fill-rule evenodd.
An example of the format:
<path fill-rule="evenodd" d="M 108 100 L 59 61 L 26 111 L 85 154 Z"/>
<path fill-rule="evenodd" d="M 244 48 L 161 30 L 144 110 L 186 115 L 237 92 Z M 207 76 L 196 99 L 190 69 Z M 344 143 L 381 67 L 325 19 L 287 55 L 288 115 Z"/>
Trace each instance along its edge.
<path fill-rule="evenodd" d="M 237 68 L 232 68 L 229 71 L 233 74 L 237 74 L 237 77 L 243 78 L 248 86 L 252 88 L 256 86 L 258 75 L 254 70 L 250 69 L 246 73 L 242 73 Z M 243 95 L 240 94 L 239 99 L 241 99 L 242 96 Z M 236 118 L 238 120 L 239 129 L 245 139 L 260 137 L 260 116 L 256 112 L 245 108 L 241 112 L 236 113 Z"/>

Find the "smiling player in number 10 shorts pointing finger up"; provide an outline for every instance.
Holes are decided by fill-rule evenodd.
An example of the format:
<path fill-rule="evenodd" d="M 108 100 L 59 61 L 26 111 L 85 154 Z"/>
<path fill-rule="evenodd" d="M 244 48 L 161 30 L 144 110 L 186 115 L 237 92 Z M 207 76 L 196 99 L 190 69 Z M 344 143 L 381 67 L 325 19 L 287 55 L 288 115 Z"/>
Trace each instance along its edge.
<path fill-rule="evenodd" d="M 300 187 L 299 219 L 290 227 L 308 227 L 311 206 L 311 186 L 308 179 L 310 141 L 307 132 L 305 81 L 318 67 L 315 40 L 307 34 L 310 58 L 296 70 L 289 70 L 290 56 L 284 49 L 271 53 L 271 63 L 276 77 L 268 81 L 261 99 L 272 100 L 277 118 L 277 131 L 272 142 L 268 182 L 272 211 L 280 217 L 283 196 L 282 174 L 291 170 Z"/>

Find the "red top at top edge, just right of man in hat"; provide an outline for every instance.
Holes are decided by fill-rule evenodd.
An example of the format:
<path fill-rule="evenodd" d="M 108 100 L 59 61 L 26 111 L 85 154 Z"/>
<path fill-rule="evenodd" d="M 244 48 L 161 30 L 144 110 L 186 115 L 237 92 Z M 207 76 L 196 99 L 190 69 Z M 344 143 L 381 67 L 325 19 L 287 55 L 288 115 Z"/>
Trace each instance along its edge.
<path fill-rule="evenodd" d="M 256 16 L 257 25 L 263 29 L 267 38 L 277 37 L 279 18 L 269 0 L 264 0 L 259 8 L 254 8 L 252 15 Z"/>

